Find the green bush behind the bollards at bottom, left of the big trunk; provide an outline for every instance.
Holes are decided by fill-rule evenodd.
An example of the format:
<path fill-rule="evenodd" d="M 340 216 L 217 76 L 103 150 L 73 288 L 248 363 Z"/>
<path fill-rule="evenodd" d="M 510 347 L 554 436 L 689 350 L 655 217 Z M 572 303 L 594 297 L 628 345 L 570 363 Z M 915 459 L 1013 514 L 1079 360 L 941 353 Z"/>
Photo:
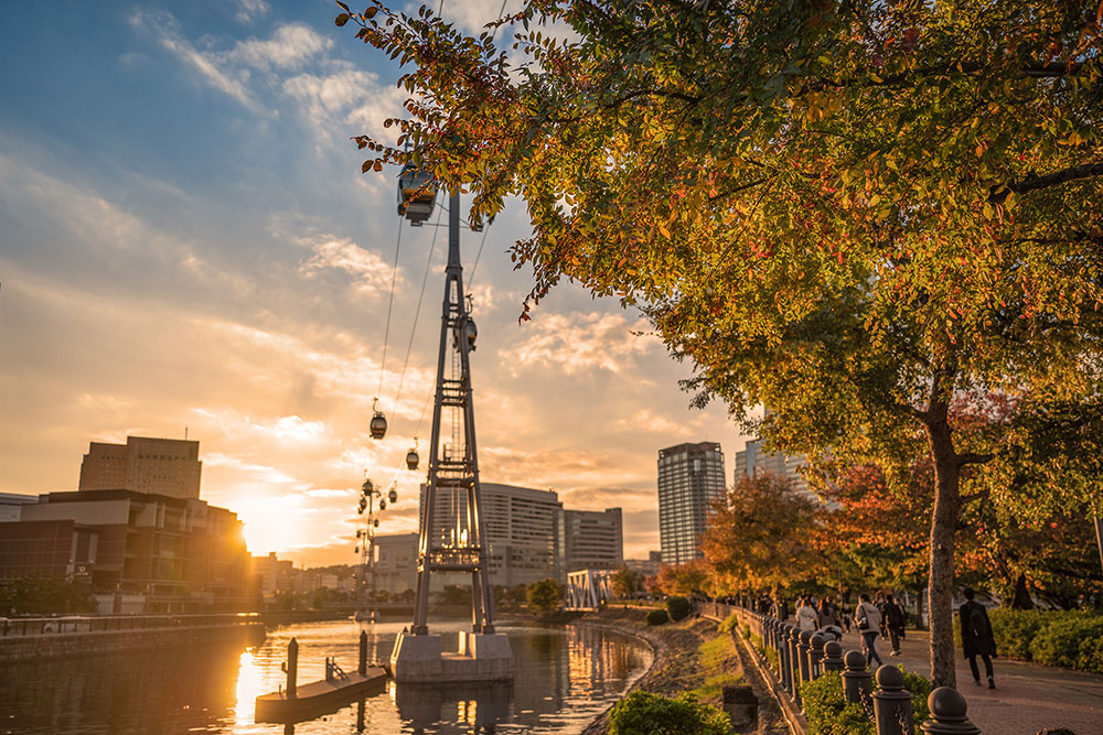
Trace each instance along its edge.
<path fill-rule="evenodd" d="M 927 698 L 931 694 L 931 682 L 918 673 L 904 671 L 903 684 L 911 693 L 911 710 L 915 725 L 931 716 L 927 709 Z M 847 702 L 843 698 L 843 674 L 826 671 L 815 681 L 801 684 L 804 715 L 808 721 L 808 735 L 876 735 L 877 728 L 866 715 L 861 704 Z"/>

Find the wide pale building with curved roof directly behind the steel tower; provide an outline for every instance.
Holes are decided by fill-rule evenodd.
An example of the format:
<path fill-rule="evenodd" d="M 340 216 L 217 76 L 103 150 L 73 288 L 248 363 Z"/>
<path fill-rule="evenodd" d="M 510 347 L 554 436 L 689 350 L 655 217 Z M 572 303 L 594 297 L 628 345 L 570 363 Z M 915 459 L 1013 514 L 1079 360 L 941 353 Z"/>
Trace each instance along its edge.
<path fill-rule="evenodd" d="M 491 584 L 512 587 L 560 576 L 559 539 L 563 505 L 553 490 L 481 484 L 484 539 L 489 550 Z M 421 504 L 426 488 L 421 486 Z M 430 544 L 448 547 L 464 543 L 468 534 L 465 493 L 437 494 L 432 514 Z M 446 584 L 468 585 L 469 574 L 436 573 L 432 588 Z"/>

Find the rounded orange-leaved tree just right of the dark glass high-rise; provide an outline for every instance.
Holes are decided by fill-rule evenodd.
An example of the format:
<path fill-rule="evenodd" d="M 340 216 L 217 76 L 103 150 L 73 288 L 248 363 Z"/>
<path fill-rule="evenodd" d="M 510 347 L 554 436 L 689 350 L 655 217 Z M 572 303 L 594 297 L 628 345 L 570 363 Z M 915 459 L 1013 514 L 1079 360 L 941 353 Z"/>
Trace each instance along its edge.
<path fill-rule="evenodd" d="M 702 538 L 721 593 L 759 592 L 815 579 L 818 504 L 781 477 L 745 477 L 713 506 Z"/>

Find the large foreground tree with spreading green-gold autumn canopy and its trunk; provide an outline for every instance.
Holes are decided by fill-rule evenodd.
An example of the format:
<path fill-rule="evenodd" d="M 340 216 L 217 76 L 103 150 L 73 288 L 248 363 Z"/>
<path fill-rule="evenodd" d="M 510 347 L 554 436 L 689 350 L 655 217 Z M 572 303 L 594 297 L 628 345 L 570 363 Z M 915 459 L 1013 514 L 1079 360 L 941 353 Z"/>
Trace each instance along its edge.
<path fill-rule="evenodd" d="M 395 144 L 356 139 L 364 170 L 427 166 L 473 193 L 473 223 L 523 197 L 524 318 L 564 278 L 619 295 L 693 361 L 699 402 L 813 464 L 910 458 L 922 432 L 931 667 L 952 685 L 962 475 L 999 461 L 959 443 L 952 401 L 1025 391 L 1046 417 L 1100 392 L 1097 9 L 529 0 L 499 23 L 520 61 L 426 8 L 350 21 L 413 64 Z M 1038 505 L 1070 487 L 1103 511 L 1084 483 Z"/>

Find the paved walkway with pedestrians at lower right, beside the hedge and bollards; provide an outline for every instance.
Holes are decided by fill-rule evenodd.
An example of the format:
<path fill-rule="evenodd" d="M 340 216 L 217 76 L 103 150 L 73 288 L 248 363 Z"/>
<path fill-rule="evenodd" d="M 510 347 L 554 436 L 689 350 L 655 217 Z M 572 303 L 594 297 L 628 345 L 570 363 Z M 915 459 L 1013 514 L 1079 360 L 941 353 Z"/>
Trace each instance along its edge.
<path fill-rule="evenodd" d="M 853 630 L 843 638 L 844 651 L 860 648 Z M 892 657 L 892 647 L 877 640 L 877 652 L 886 663 L 902 663 L 909 671 L 930 675 L 930 637 L 909 631 Z M 968 717 L 983 735 L 1035 735 L 1045 727 L 1068 727 L 1077 735 L 1103 735 L 1103 677 L 1053 669 L 1020 661 L 993 661 L 996 689 L 973 685 L 968 661 L 957 656 L 957 689 L 968 702 Z M 977 659 L 982 682 L 984 664 Z M 983 682 L 984 683 L 984 682 Z"/>

